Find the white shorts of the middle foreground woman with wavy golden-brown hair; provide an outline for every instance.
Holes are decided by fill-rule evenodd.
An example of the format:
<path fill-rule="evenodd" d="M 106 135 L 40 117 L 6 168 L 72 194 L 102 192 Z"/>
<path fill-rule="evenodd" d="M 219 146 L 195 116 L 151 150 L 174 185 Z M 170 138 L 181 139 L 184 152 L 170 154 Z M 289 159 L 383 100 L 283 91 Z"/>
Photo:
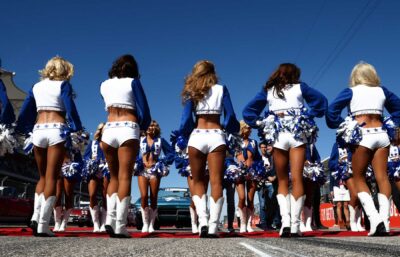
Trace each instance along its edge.
<path fill-rule="evenodd" d="M 188 142 L 188 146 L 204 154 L 211 153 L 220 145 L 226 145 L 225 133 L 220 129 L 194 129 Z"/>

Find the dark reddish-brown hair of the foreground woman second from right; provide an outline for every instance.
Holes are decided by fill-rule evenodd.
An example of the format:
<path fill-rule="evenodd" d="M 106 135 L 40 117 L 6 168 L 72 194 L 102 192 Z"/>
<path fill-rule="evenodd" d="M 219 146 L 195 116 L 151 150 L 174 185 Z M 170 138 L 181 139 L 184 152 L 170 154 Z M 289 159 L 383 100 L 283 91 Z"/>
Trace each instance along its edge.
<path fill-rule="evenodd" d="M 264 90 L 267 91 L 270 88 L 274 88 L 279 98 L 284 99 L 285 94 L 283 89 L 286 85 L 297 84 L 300 82 L 300 68 L 293 63 L 282 63 L 279 65 L 268 81 L 265 83 Z"/>

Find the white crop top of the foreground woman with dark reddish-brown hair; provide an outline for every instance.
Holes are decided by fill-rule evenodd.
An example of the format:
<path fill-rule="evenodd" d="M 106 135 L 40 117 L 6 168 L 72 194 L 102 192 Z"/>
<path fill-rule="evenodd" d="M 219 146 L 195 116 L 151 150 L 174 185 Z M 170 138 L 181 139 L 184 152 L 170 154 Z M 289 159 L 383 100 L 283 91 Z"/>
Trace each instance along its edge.
<path fill-rule="evenodd" d="M 281 99 L 274 87 L 268 89 L 267 101 L 269 110 L 275 113 L 285 113 L 286 111 L 300 111 L 304 107 L 303 94 L 300 84 L 286 85 L 282 90 L 285 98 Z"/>

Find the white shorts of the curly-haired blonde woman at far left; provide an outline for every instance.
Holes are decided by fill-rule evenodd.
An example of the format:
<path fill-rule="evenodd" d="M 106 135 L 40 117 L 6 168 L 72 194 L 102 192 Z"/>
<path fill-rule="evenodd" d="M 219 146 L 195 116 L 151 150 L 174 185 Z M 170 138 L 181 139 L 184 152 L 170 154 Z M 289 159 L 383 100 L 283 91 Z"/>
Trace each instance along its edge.
<path fill-rule="evenodd" d="M 48 148 L 65 141 L 62 136 L 67 126 L 64 123 L 40 123 L 35 124 L 32 133 L 34 146 Z"/>

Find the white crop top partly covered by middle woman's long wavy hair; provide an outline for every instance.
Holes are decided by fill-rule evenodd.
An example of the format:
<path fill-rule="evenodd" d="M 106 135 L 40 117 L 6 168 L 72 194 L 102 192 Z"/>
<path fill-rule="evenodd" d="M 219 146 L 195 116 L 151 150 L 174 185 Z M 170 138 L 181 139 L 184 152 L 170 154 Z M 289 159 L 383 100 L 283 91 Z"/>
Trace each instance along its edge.
<path fill-rule="evenodd" d="M 224 87 L 215 84 L 196 106 L 196 114 L 221 114 Z"/>

